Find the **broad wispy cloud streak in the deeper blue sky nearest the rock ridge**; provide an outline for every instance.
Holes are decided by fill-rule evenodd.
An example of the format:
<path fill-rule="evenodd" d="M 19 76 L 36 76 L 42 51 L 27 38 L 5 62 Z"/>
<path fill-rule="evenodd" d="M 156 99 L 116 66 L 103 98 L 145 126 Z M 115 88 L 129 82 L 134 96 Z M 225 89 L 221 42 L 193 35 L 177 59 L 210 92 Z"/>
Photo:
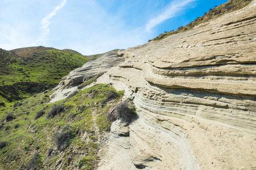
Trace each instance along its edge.
<path fill-rule="evenodd" d="M 190 5 L 191 2 L 194 1 L 197 0 L 175 0 L 171 2 L 165 11 L 163 11 L 160 15 L 150 19 L 149 22 L 146 23 L 146 31 L 150 32 L 153 27 L 156 27 L 156 25 L 164 22 L 171 17 L 178 15 L 179 12 L 184 10 L 188 5 Z"/>

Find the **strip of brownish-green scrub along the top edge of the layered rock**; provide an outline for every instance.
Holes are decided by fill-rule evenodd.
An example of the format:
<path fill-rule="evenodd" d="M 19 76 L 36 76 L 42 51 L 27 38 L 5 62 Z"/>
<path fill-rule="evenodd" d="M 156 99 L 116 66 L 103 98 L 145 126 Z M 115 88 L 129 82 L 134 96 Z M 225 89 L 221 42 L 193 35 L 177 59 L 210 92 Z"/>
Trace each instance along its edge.
<path fill-rule="evenodd" d="M 216 6 L 215 8 L 210 8 L 209 12 L 205 12 L 203 16 L 198 17 L 193 22 L 187 24 L 186 26 L 181 26 L 177 30 L 161 33 L 156 38 L 149 40 L 150 41 L 157 41 L 165 39 L 166 37 L 169 37 L 170 35 L 173 35 L 175 33 L 185 32 L 189 31 L 190 29 L 194 28 L 196 25 L 208 22 L 211 19 L 218 18 L 219 16 L 226 14 L 228 12 L 239 10 L 249 3 L 251 3 L 253 0 L 230 0 L 220 6 Z"/>

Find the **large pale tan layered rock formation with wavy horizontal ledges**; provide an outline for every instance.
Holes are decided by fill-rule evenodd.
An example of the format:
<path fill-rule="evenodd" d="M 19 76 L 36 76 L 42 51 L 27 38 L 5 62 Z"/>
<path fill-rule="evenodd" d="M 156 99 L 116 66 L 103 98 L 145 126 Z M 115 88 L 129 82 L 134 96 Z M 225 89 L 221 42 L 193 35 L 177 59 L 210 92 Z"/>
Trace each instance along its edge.
<path fill-rule="evenodd" d="M 255 11 L 256 1 L 129 48 L 102 71 L 96 83 L 125 90 L 139 118 L 129 134 L 114 123 L 99 169 L 256 169 Z M 58 88 L 94 73 L 86 68 Z"/>

